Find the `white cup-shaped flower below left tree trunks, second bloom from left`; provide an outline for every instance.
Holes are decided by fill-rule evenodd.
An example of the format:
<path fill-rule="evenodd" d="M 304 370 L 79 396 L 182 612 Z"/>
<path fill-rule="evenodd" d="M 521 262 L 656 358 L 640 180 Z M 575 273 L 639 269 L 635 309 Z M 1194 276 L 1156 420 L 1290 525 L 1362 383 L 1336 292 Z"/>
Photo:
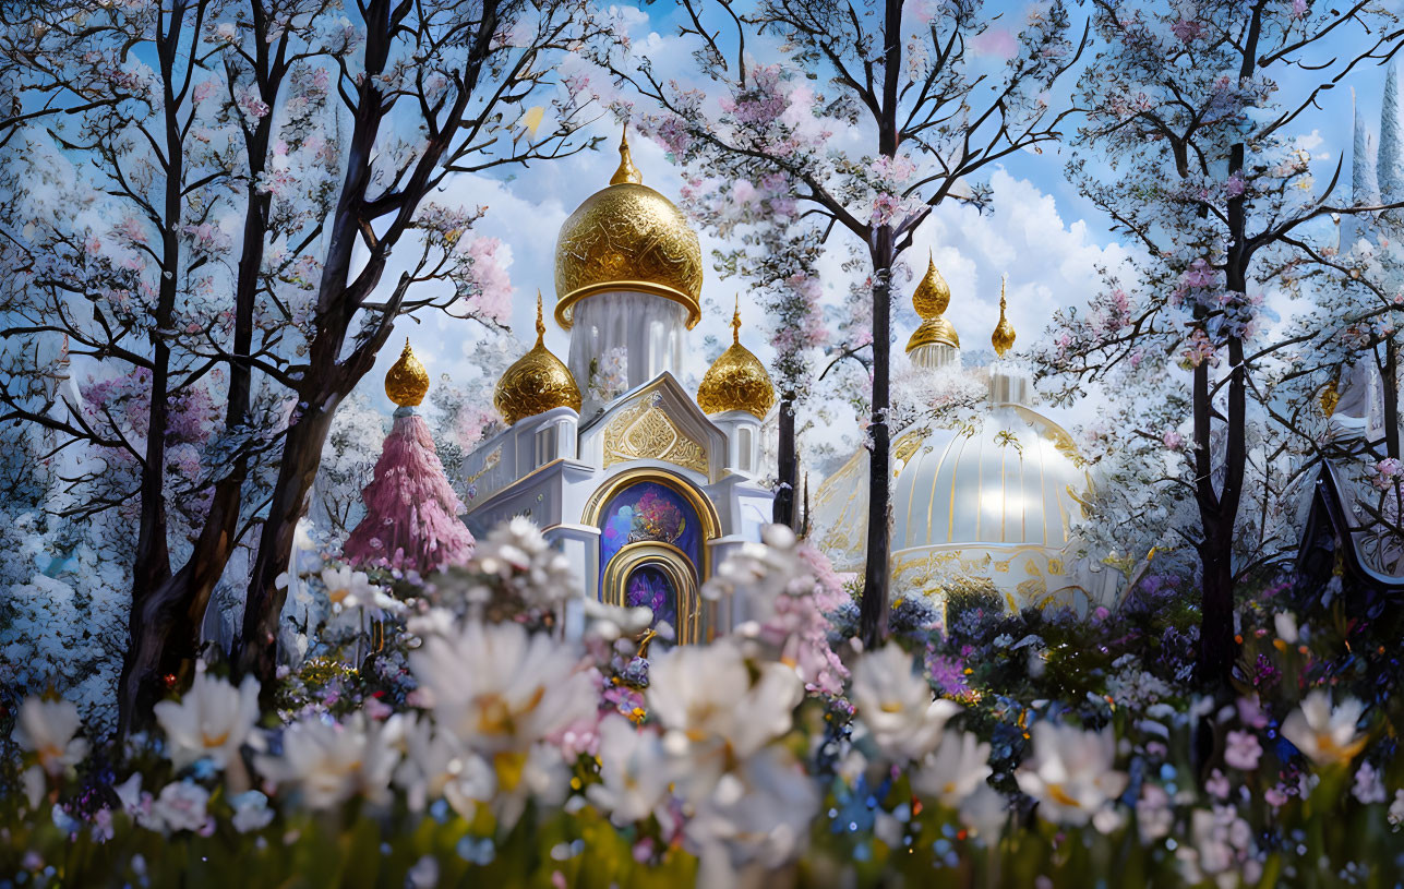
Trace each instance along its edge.
<path fill-rule="evenodd" d="M 258 680 L 249 676 L 234 688 L 227 680 L 197 673 L 181 699 L 154 706 L 176 768 L 209 757 L 225 768 L 258 722 Z"/>

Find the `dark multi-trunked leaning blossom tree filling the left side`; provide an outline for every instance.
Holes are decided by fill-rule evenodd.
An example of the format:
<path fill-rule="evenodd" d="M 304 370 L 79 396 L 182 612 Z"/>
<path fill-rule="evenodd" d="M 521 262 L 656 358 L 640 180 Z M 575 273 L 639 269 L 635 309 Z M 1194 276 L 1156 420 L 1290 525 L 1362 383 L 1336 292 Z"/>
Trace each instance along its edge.
<path fill-rule="evenodd" d="M 322 0 L 4 11 L 0 56 L 45 115 L 0 121 L 24 159 L 4 164 L 0 194 L 18 211 L 0 247 L 17 272 L 0 306 L 0 404 L 102 461 L 69 480 L 86 486 L 77 511 L 132 514 L 124 727 L 167 677 L 188 677 L 237 546 L 253 567 L 234 654 L 272 677 L 277 577 L 336 407 L 395 320 L 504 320 L 497 242 L 472 230 L 486 208 L 425 198 L 456 174 L 588 145 L 549 65 L 590 37 L 584 4 L 345 13 Z M 541 128 L 531 101 L 555 122 Z M 80 399 L 35 382 L 60 336 L 98 369 Z"/>

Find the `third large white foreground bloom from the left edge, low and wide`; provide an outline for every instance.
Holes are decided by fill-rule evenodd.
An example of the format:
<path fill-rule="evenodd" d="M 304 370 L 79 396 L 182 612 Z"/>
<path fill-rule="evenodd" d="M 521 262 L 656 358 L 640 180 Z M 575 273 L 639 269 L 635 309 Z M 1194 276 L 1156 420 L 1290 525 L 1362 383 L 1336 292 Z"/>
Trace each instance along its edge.
<path fill-rule="evenodd" d="M 278 784 L 295 784 L 309 809 L 330 809 L 354 795 L 385 799 L 399 753 L 379 723 L 357 715 L 345 725 L 317 716 L 299 719 L 282 736 L 282 756 L 258 757 L 258 768 Z"/>

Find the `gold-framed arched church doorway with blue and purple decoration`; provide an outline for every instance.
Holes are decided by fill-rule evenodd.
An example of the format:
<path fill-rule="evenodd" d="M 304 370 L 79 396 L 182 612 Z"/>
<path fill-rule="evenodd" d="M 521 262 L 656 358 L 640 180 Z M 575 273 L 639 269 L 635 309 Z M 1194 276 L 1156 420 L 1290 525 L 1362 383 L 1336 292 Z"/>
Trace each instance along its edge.
<path fill-rule="evenodd" d="M 649 605 L 678 642 L 701 640 L 706 542 L 719 528 L 712 503 L 667 470 L 635 469 L 601 487 L 584 520 L 600 528 L 601 601 Z"/>

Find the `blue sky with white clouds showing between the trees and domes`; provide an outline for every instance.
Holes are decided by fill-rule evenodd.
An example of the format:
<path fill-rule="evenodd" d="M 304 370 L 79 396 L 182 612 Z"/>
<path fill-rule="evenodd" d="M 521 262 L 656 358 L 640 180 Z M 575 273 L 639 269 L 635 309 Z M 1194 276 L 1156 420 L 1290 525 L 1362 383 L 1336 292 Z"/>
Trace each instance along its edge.
<path fill-rule="evenodd" d="M 991 14 L 1004 11 L 1022 15 L 1025 8 L 1024 3 L 987 4 Z M 632 34 L 636 42 L 654 41 L 656 45 L 673 42 L 677 15 L 673 4 L 657 3 L 642 10 L 628 7 L 621 10 L 625 18 L 635 22 Z M 1082 13 L 1074 10 L 1074 14 Z M 1358 41 L 1359 32 L 1344 34 L 1323 49 L 1331 55 L 1344 55 L 1356 51 Z M 758 60 L 768 60 L 764 46 L 754 49 Z M 1095 45 L 1090 52 L 1095 52 Z M 674 60 L 673 65 L 680 66 L 675 70 L 687 77 L 685 60 Z M 1383 81 L 1383 67 L 1358 69 L 1337 88 L 1323 94 L 1320 108 L 1302 117 L 1296 131 L 1316 132 L 1320 136 L 1313 149 L 1323 164 L 1323 170 L 1318 171 L 1320 183 L 1324 184 L 1330 177 L 1330 169 L 1325 167 L 1334 167 L 1342 150 L 1349 153 L 1351 88 L 1355 88 L 1373 129 L 1379 125 Z M 1292 79 L 1283 81 L 1283 93 L 1287 96 L 1299 94 L 1299 87 L 1300 83 L 1292 83 Z M 1074 125 L 1075 121 L 1070 122 L 1068 132 Z M 545 294 L 548 306 L 553 299 L 555 237 L 560 223 L 581 201 L 607 184 L 616 164 L 618 156 L 612 146 L 618 139 L 618 126 L 612 119 L 607 119 L 597 132 L 608 136 L 601 152 L 535 164 L 529 170 L 517 171 L 510 180 L 463 177 L 449 187 L 449 194 L 444 195 L 462 199 L 465 204 L 486 204 L 490 208 L 487 218 L 480 223 L 480 230 L 500 237 L 511 253 L 508 271 L 514 285 L 512 327 L 522 340 L 531 338 L 536 289 Z M 668 163 L 661 147 L 635 139 L 635 159 L 646 184 L 664 195 L 678 194 L 681 187 L 678 170 Z M 1040 154 L 1014 154 L 990 176 L 994 187 L 993 213 L 981 216 L 967 208 L 949 205 L 941 208 L 918 232 L 915 250 L 908 256 L 921 257 L 928 249 L 935 253 L 936 264 L 952 287 L 953 299 L 948 316 L 960 331 L 967 348 L 987 348 L 990 330 L 998 317 L 1001 274 L 1009 275 L 1009 315 L 1019 333 L 1018 345 L 1028 347 L 1043 334 L 1047 319 L 1056 308 L 1078 305 L 1097 288 L 1098 264 L 1115 263 L 1126 256 L 1126 250 L 1109 232 L 1101 213 L 1064 178 L 1066 160 L 1067 149 L 1053 145 L 1045 146 Z M 1342 173 L 1342 183 L 1349 183 L 1348 167 Z M 703 250 L 708 250 L 710 242 L 706 237 L 702 240 Z M 837 261 L 830 265 L 830 292 L 838 299 L 847 282 L 838 274 Z M 698 378 L 715 354 L 715 350 L 703 348 L 703 340 L 708 336 L 717 338 L 727 336 L 726 322 L 730 316 L 731 296 L 737 289 L 744 287 L 717 279 L 709 268 L 703 301 L 713 309 L 705 309 L 702 324 L 691 334 L 694 348 L 688 371 Z M 765 357 L 764 331 L 760 326 L 762 319 L 747 316 L 744 299 L 743 320 L 746 322 L 743 336 L 748 333 L 747 344 Z M 899 343 L 906 338 L 914 323 L 907 302 L 901 301 L 894 331 Z M 399 343 L 402 336 L 409 336 L 435 378 L 439 372 L 461 378 L 476 372 L 472 347 L 479 333 L 473 327 L 472 323 L 446 317 L 425 317 L 421 323 L 403 320 L 393 343 Z M 564 331 L 550 324 L 548 344 L 560 355 L 567 350 L 566 337 Z M 399 348 L 385 350 L 376 371 L 364 381 L 362 392 L 383 402 L 380 381 L 397 354 Z"/>

